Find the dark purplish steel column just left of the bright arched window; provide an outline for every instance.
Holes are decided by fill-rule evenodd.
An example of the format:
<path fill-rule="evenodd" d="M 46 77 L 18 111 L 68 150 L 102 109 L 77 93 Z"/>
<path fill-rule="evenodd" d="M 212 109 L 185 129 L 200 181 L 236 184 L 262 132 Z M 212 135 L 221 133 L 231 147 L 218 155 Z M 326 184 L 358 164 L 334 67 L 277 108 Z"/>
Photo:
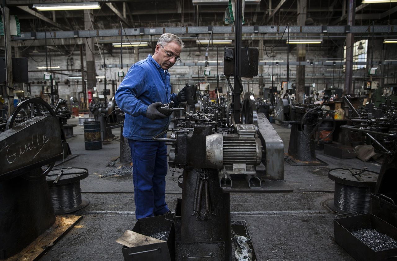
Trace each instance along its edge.
<path fill-rule="evenodd" d="M 349 9 L 347 13 L 347 25 L 355 25 L 355 14 L 356 14 L 356 0 L 349 0 Z M 345 86 L 343 87 L 343 94 L 353 93 L 352 81 L 353 81 L 353 43 L 354 35 L 352 33 L 346 34 L 346 71 L 345 71 Z"/>

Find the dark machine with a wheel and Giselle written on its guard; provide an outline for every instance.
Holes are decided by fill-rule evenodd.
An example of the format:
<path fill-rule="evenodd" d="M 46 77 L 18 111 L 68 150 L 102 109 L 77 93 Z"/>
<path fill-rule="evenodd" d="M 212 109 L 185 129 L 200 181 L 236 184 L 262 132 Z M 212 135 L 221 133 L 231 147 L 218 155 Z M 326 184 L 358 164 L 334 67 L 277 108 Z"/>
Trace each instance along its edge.
<path fill-rule="evenodd" d="M 0 133 L 0 259 L 21 251 L 55 221 L 45 175 L 64 154 L 59 120 L 41 99 L 24 102 Z M 27 102 L 30 114 L 17 116 Z"/>

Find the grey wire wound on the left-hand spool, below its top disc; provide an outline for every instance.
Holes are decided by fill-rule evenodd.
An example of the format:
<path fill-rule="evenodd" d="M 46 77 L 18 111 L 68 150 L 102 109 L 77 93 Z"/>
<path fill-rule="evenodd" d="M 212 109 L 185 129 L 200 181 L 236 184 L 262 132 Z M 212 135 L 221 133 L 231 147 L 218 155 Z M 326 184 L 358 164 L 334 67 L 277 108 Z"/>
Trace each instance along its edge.
<path fill-rule="evenodd" d="M 55 213 L 68 213 L 82 203 L 80 181 L 50 188 Z"/>

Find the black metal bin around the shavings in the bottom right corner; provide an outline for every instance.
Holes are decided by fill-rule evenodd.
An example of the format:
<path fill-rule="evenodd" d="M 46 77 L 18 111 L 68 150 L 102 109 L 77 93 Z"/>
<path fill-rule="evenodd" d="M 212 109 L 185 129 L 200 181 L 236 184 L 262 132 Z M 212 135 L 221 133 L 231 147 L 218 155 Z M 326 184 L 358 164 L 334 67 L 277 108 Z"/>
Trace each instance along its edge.
<path fill-rule="evenodd" d="M 352 232 L 361 228 L 376 229 L 395 240 L 397 239 L 397 228 L 371 213 L 366 213 L 352 217 L 334 219 L 333 230 L 335 234 L 335 242 L 343 247 L 347 253 L 357 261 L 389 260 L 388 258 L 397 255 L 397 248 L 387 249 L 384 251 L 374 251 L 372 248 L 364 244 L 352 234 Z"/>

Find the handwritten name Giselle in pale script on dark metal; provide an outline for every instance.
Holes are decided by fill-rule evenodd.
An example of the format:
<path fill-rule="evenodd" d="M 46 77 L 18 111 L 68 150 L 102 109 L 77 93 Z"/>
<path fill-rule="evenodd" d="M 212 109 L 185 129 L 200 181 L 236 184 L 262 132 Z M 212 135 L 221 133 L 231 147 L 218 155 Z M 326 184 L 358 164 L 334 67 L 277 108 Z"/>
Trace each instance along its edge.
<path fill-rule="evenodd" d="M 35 137 L 36 136 L 36 137 Z M 11 145 L 7 145 L 7 161 L 8 163 L 12 164 L 16 159 L 21 157 L 24 153 L 27 153 L 29 151 L 37 151 L 35 156 L 32 158 L 34 159 L 41 149 L 46 145 L 48 142 L 48 138 L 46 137 L 45 134 L 39 134 L 37 135 L 32 134 L 32 142 L 24 142 L 22 145 L 18 145 L 15 143 L 12 143 Z"/>

